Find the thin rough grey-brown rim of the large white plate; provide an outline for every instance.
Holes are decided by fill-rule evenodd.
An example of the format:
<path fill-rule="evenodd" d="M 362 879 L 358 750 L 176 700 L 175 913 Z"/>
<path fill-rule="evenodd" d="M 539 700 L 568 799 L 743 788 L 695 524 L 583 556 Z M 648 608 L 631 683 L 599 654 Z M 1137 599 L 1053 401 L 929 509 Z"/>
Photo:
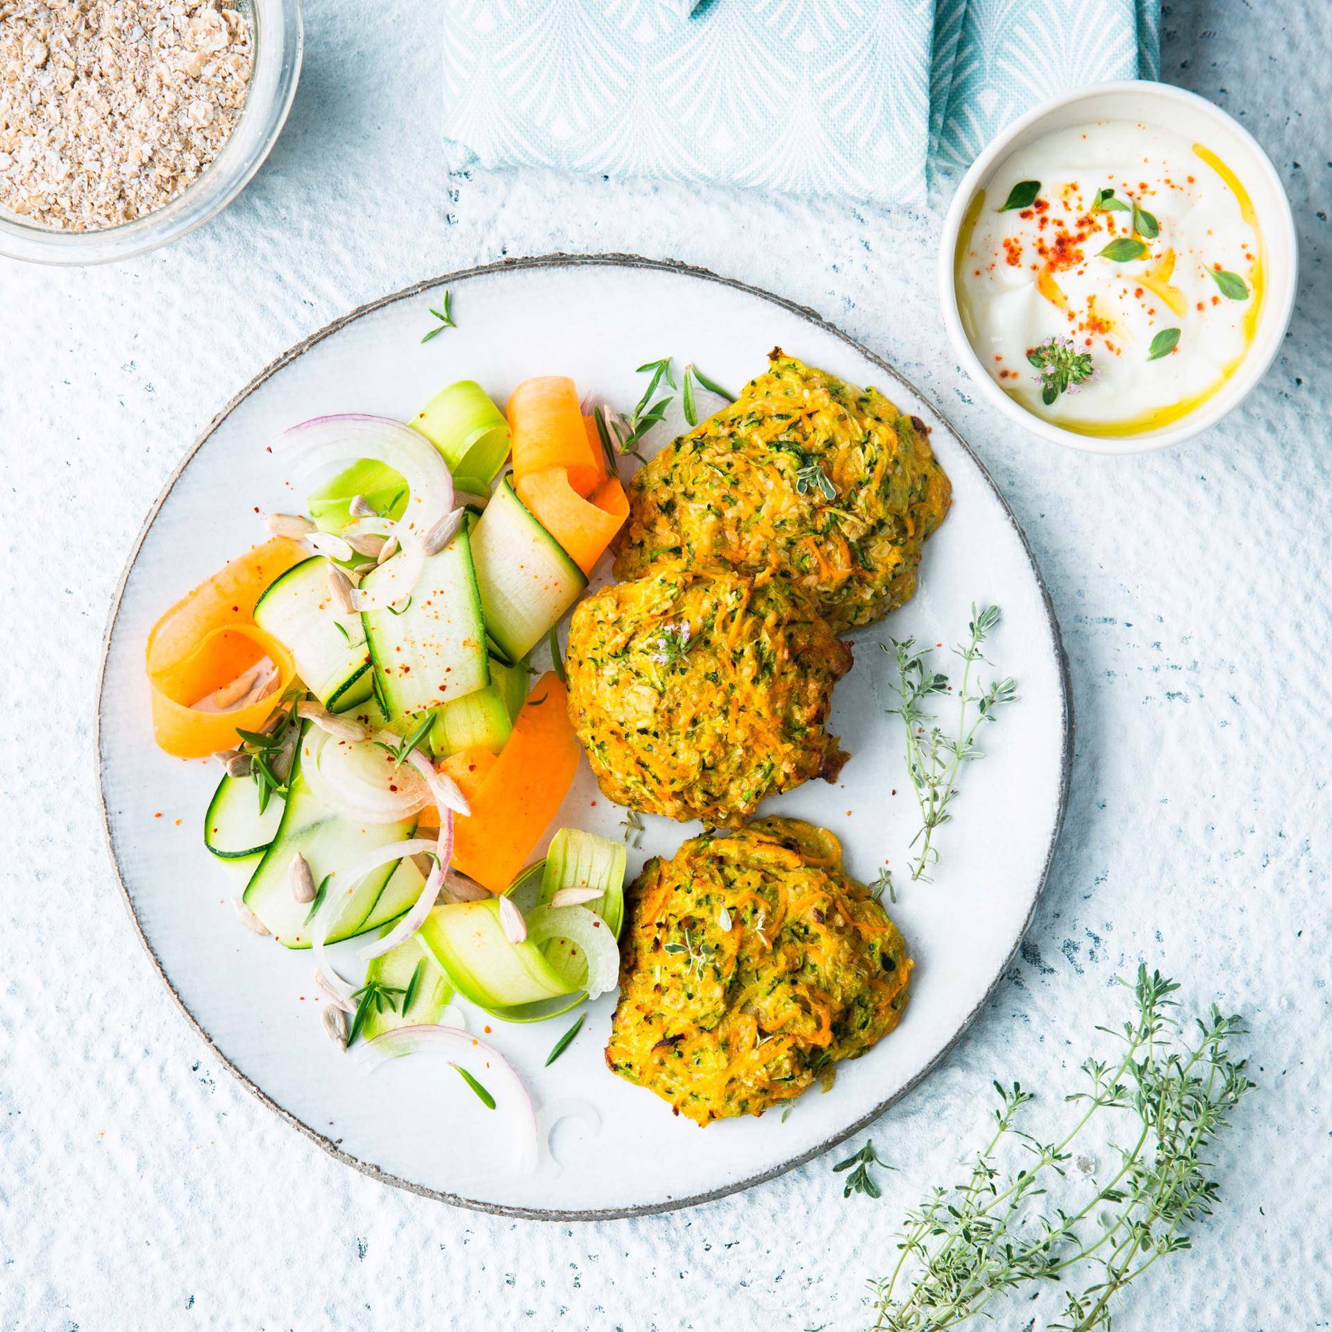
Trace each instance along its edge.
<path fill-rule="evenodd" d="M 372 314 L 376 310 L 381 310 L 385 306 L 393 305 L 398 301 L 410 300 L 432 288 L 442 286 L 449 282 L 461 282 L 473 277 L 482 277 L 492 273 L 522 270 L 522 269 L 542 269 L 542 268 L 629 268 L 629 269 L 649 269 L 655 272 L 673 273 L 683 277 L 693 277 L 707 282 L 715 282 L 721 286 L 730 286 L 735 290 L 743 292 L 747 296 L 758 297 L 759 300 L 767 301 L 771 305 L 777 305 L 781 309 L 798 316 L 802 320 L 815 325 L 825 333 L 830 333 L 832 337 L 844 342 L 854 352 L 858 352 L 867 361 L 870 361 L 876 369 L 879 369 L 890 380 L 895 381 L 907 392 L 912 393 L 915 397 L 928 404 L 931 412 L 938 418 L 940 426 L 948 432 L 952 440 L 966 452 L 970 460 L 975 464 L 986 485 L 990 488 L 995 500 L 999 501 L 999 506 L 1003 511 L 1004 518 L 1007 518 L 1008 525 L 1012 527 L 1022 543 L 1023 553 L 1027 557 L 1027 563 L 1031 566 L 1031 571 L 1035 575 L 1036 586 L 1040 591 L 1042 605 L 1046 613 L 1046 619 L 1050 626 L 1050 631 L 1055 646 L 1055 666 L 1059 674 L 1059 690 L 1060 690 L 1060 726 L 1063 729 L 1063 746 L 1059 758 L 1059 799 L 1058 809 L 1055 813 L 1055 823 L 1050 834 L 1050 844 L 1046 848 L 1044 863 L 1040 868 L 1040 880 L 1036 884 L 1036 891 L 1032 895 L 1031 906 L 1027 908 L 1027 914 L 1022 920 L 1022 926 L 1016 932 L 1012 947 L 1008 950 L 1003 964 L 995 972 L 994 980 L 986 987 L 986 991 L 976 1000 L 971 1011 L 962 1019 L 956 1031 L 948 1038 L 948 1040 L 939 1048 L 935 1056 L 916 1072 L 914 1078 L 907 1080 L 902 1087 L 899 1087 L 891 1096 L 879 1102 L 870 1110 L 866 1115 L 862 1115 L 855 1123 L 850 1124 L 846 1130 L 832 1134 L 823 1142 L 809 1148 L 807 1151 L 799 1152 L 798 1155 L 774 1166 L 770 1169 L 759 1171 L 755 1175 L 746 1176 L 733 1184 L 726 1184 L 721 1188 L 709 1189 L 702 1193 L 691 1193 L 687 1197 L 670 1199 L 665 1203 L 645 1203 L 637 1207 L 610 1207 L 610 1208 L 585 1208 L 581 1211 L 554 1211 L 549 1208 L 533 1208 L 533 1207 L 518 1207 L 506 1203 L 489 1203 L 481 1199 L 465 1197 L 461 1193 L 452 1193 L 444 1189 L 429 1188 L 425 1184 L 417 1184 L 413 1180 L 402 1179 L 398 1175 L 393 1175 L 389 1171 L 382 1169 L 373 1162 L 364 1162 L 358 1156 L 353 1156 L 350 1152 L 342 1151 L 342 1148 L 326 1134 L 318 1132 L 318 1130 L 312 1128 L 302 1119 L 298 1119 L 292 1111 L 285 1106 L 280 1106 L 272 1096 L 268 1095 L 256 1082 L 253 1082 L 246 1074 L 244 1074 L 232 1060 L 224 1054 L 221 1047 L 213 1039 L 210 1032 L 208 1032 L 198 1019 L 190 1012 L 189 1006 L 181 998 L 176 986 L 172 983 L 170 976 L 168 976 L 166 970 L 163 967 L 152 943 L 148 939 L 147 932 L 135 911 L 133 899 L 129 895 L 129 888 L 125 884 L 124 875 L 121 874 L 120 860 L 116 855 L 116 842 L 111 830 L 111 813 L 107 807 L 107 786 L 105 786 L 105 771 L 103 765 L 103 699 L 107 687 L 107 663 L 111 655 L 111 639 L 116 629 L 116 621 L 120 617 L 120 606 L 124 599 L 125 586 L 129 581 L 129 574 L 132 573 L 135 565 L 139 561 L 139 554 L 143 549 L 144 541 L 152 529 L 153 522 L 156 522 L 163 505 L 166 502 L 176 482 L 180 480 L 185 469 L 193 461 L 194 456 L 200 449 L 212 438 L 218 426 L 236 410 L 252 393 L 260 389 L 268 382 L 278 370 L 284 369 L 292 361 L 304 356 L 310 348 L 322 342 L 326 337 L 332 337 L 334 333 L 354 324 L 357 320 L 364 318 L 366 314 Z M 124 567 L 121 569 L 120 578 L 116 582 L 116 589 L 112 594 L 111 609 L 107 614 L 107 625 L 103 630 L 101 638 L 101 661 L 97 669 L 97 690 L 95 699 L 95 715 L 93 715 L 93 765 L 95 777 L 97 783 L 97 806 L 101 813 L 101 826 L 103 835 L 107 842 L 107 852 L 111 859 L 111 868 L 116 879 L 116 886 L 120 888 L 120 896 L 129 914 L 131 924 L 133 926 L 135 934 L 139 936 L 140 944 L 143 944 L 144 951 L 148 954 L 148 959 L 157 972 L 163 984 L 166 987 L 166 992 L 174 1000 L 176 1007 L 181 1011 L 185 1020 L 194 1030 L 196 1035 L 208 1046 L 213 1056 L 220 1060 L 224 1068 L 248 1091 L 253 1095 L 262 1106 L 273 1111 L 280 1119 L 282 1119 L 292 1128 L 297 1130 L 306 1139 L 314 1143 L 317 1147 L 322 1148 L 334 1160 L 344 1166 L 350 1166 L 360 1171 L 362 1175 L 378 1180 L 384 1184 L 392 1184 L 394 1188 L 401 1188 L 409 1193 L 416 1193 L 418 1197 L 429 1197 L 434 1201 L 449 1203 L 454 1207 L 464 1207 L 476 1212 L 486 1212 L 492 1216 L 510 1216 L 518 1217 L 521 1220 L 534 1220 L 534 1221 L 605 1221 L 605 1220 L 621 1220 L 637 1216 L 655 1216 L 663 1212 L 674 1212 L 686 1207 L 698 1207 L 702 1203 L 715 1201 L 719 1197 L 727 1197 L 733 1193 L 742 1193 L 746 1189 L 753 1188 L 755 1184 L 763 1184 L 767 1180 L 777 1179 L 779 1175 L 785 1175 L 787 1171 L 795 1169 L 798 1166 L 803 1166 L 815 1156 L 822 1156 L 825 1152 L 831 1151 L 834 1147 L 844 1143 L 848 1138 L 854 1138 L 862 1130 L 872 1124 L 886 1110 L 902 1100 L 908 1092 L 914 1091 L 934 1070 L 940 1064 L 940 1062 L 952 1052 L 956 1044 L 962 1040 L 963 1035 L 968 1031 L 971 1024 L 975 1022 L 980 1010 L 986 1007 L 990 999 L 994 996 L 1008 971 L 1008 966 L 1018 952 L 1022 940 L 1027 935 L 1027 930 L 1031 926 L 1032 915 L 1035 914 L 1036 904 L 1040 902 L 1042 894 L 1046 890 L 1046 884 L 1050 879 L 1050 870 L 1054 863 L 1055 850 L 1059 846 L 1059 838 L 1064 826 L 1064 817 L 1068 811 L 1068 797 L 1072 783 L 1072 758 L 1074 758 L 1074 703 L 1072 703 L 1072 687 L 1070 682 L 1068 671 L 1068 654 L 1064 649 L 1063 634 L 1059 630 L 1059 617 L 1055 614 L 1054 601 L 1050 595 L 1050 589 L 1046 586 L 1046 579 L 1042 577 L 1040 566 L 1036 563 L 1036 558 L 1032 554 L 1031 543 L 1027 541 L 1027 534 L 1023 531 L 1022 525 L 1018 522 L 1014 511 L 1008 507 L 1007 500 L 1003 497 L 1003 492 L 995 485 L 994 478 L 990 476 L 986 465 L 976 456 L 971 445 L 962 437 L 952 421 L 940 410 L 934 396 L 922 392 L 915 384 L 912 384 L 904 374 L 896 370 L 892 365 L 883 360 L 883 357 L 871 352 L 864 344 L 859 342 L 856 338 L 844 333 L 835 324 L 823 318 L 817 310 L 807 305 L 801 305 L 797 301 L 787 300 L 783 296 L 777 296 L 773 292 L 766 290 L 761 286 L 754 286 L 749 282 L 743 282 L 738 278 L 723 277 L 719 273 L 714 273 L 711 269 L 701 268 L 694 264 L 686 264 L 681 260 L 671 258 L 647 258 L 642 254 L 618 253 L 607 252 L 601 254 L 573 254 L 566 252 L 555 252 L 550 254 L 533 254 L 533 256 L 515 256 L 497 260 L 490 264 L 477 264 L 470 268 L 456 269 L 449 273 L 444 273 L 438 277 L 422 278 L 421 281 L 413 282 L 409 286 L 401 288 L 397 292 L 390 292 L 388 296 L 381 296 L 373 301 L 368 301 L 362 305 L 356 306 L 346 314 L 340 316 L 329 324 L 325 324 L 321 329 L 314 333 L 301 338 L 294 342 L 285 352 L 272 360 L 266 366 L 264 366 L 249 382 L 240 389 L 226 404 L 222 406 L 213 418 L 204 428 L 198 438 L 193 445 L 185 452 L 180 462 L 172 470 L 170 476 L 166 478 L 161 492 L 153 501 L 144 517 L 143 525 L 135 537 L 133 545 L 131 547 L 129 555 L 125 559 Z"/>

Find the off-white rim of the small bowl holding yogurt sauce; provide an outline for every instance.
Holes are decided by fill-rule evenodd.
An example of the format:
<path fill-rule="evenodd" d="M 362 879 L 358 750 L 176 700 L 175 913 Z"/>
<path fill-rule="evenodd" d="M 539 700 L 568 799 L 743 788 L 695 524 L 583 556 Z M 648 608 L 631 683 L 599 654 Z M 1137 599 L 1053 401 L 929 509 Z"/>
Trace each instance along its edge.
<path fill-rule="evenodd" d="M 1276 200 L 1275 226 L 1269 228 L 1267 221 L 1264 221 L 1263 238 L 1269 249 L 1273 252 L 1280 249 L 1283 253 L 1288 253 L 1291 258 L 1289 278 L 1281 290 L 1268 292 L 1267 298 L 1271 302 L 1271 310 L 1264 317 L 1260 336 L 1255 341 L 1251 353 L 1244 358 L 1243 366 L 1231 381 L 1228 392 L 1217 394 L 1196 408 L 1176 425 L 1154 434 L 1118 437 L 1079 434 L 1075 430 L 1066 430 L 1063 426 L 1054 425 L 1028 412 L 1026 408 L 1019 406 L 994 382 L 980 364 L 980 358 L 976 356 L 962 326 L 962 316 L 958 310 L 954 272 L 958 236 L 962 230 L 963 213 L 975 194 L 978 184 L 988 174 L 995 163 L 1008 152 L 1014 140 L 1032 125 L 1054 112 L 1106 93 L 1136 93 L 1139 96 L 1160 97 L 1166 101 L 1184 103 L 1197 108 L 1204 116 L 1209 116 L 1219 127 L 1239 139 L 1253 153 L 1257 170 L 1265 176 L 1272 196 Z M 1148 113 L 1144 119 L 1151 120 L 1152 117 Z M 1075 88 L 1072 92 L 1059 93 L 1039 103 L 999 131 L 958 182 L 956 192 L 944 214 L 938 262 L 939 301 L 943 309 L 943 322 L 948 332 L 948 340 L 952 342 L 960 368 L 967 373 L 967 377 L 986 398 L 987 404 L 1003 413 L 1015 425 L 1022 426 L 1042 440 L 1078 449 L 1083 453 L 1102 454 L 1148 453 L 1156 449 L 1166 449 L 1200 434 L 1228 416 L 1249 396 L 1276 358 L 1276 353 L 1291 322 L 1291 314 L 1295 309 L 1295 293 L 1299 286 L 1299 238 L 1295 230 L 1295 218 L 1291 214 L 1291 201 L 1285 193 L 1285 186 L 1281 184 L 1281 177 L 1277 174 L 1276 166 L 1272 164 L 1272 159 L 1268 157 L 1263 145 L 1229 112 L 1223 111 L 1215 103 L 1187 88 L 1177 88 L 1173 84 L 1158 83 L 1151 79 L 1118 79 L 1107 80 L 1106 83 L 1086 84 L 1082 88 Z"/>

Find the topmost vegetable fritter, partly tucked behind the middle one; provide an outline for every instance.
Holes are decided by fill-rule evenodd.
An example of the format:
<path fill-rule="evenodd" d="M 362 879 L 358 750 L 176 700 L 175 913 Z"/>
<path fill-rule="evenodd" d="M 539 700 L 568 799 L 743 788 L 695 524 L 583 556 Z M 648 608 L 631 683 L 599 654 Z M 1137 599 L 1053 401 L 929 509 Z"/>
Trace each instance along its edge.
<path fill-rule="evenodd" d="M 952 488 L 919 417 L 781 349 L 629 486 L 617 578 L 662 558 L 774 569 L 838 631 L 910 601 Z"/>

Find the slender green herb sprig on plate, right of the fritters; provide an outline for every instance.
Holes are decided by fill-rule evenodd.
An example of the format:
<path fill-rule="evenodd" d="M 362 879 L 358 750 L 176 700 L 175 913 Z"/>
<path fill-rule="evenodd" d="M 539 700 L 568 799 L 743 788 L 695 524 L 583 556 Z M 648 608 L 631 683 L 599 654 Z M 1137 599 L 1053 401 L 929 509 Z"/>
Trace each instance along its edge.
<path fill-rule="evenodd" d="M 895 638 L 879 646 L 891 653 L 896 665 L 895 689 L 902 701 L 900 707 L 890 707 L 890 714 L 902 718 L 907 739 L 907 771 L 915 789 L 916 803 L 920 806 L 920 830 L 911 844 L 920 843 L 911 862 L 911 882 L 926 879 L 926 867 L 939 863 L 939 850 L 934 844 L 935 830 L 952 817 L 948 805 L 958 794 L 958 774 L 963 763 L 983 757 L 975 737 L 983 722 L 992 722 L 996 710 L 1011 703 L 1018 697 L 1014 681 L 1002 679 L 972 687 L 972 674 L 976 662 L 986 661 L 980 647 L 986 637 L 999 623 L 999 607 L 986 606 L 978 610 L 972 603 L 971 622 L 967 626 L 968 641 L 954 651 L 964 662 L 962 687 L 958 691 L 958 729 L 952 735 L 944 734 L 932 714 L 924 709 L 924 702 L 938 694 L 951 690 L 948 677 L 930 667 L 930 650 L 916 650 L 915 639 L 899 642 Z M 891 645 L 891 646 L 890 646 Z M 971 705 L 975 713 L 970 714 Z"/>

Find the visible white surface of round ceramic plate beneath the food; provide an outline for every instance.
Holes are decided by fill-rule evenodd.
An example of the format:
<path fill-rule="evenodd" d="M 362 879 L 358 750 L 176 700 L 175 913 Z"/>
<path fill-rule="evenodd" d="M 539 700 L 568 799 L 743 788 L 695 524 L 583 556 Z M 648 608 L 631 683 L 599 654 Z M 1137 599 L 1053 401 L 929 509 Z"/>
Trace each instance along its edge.
<path fill-rule="evenodd" d="M 422 346 L 436 322 L 429 306 L 438 308 L 445 286 L 458 326 Z M 785 1123 L 770 1114 L 706 1130 L 606 1070 L 611 996 L 591 1006 L 583 1031 L 550 1068 L 546 1054 L 567 1018 L 510 1027 L 473 1011 L 472 1030 L 497 1028 L 489 1039 L 538 1103 L 575 1096 L 602 1120 L 597 1136 L 574 1120 L 557 1131 L 562 1168 L 514 1175 L 500 1114 L 485 1110 L 452 1068 L 414 1058 L 362 1075 L 321 1030 L 309 954 L 237 923 L 228 903 L 236 887 L 201 839 L 217 770 L 155 747 L 144 639 L 166 606 L 262 539 L 256 510 L 300 507 L 268 452 L 273 436 L 297 421 L 330 412 L 408 417 L 464 377 L 502 404 L 521 380 L 550 373 L 627 408 L 642 392 L 635 366 L 667 353 L 738 390 L 774 345 L 876 384 L 923 417 L 952 478 L 952 511 L 926 550 L 915 599 L 854 638 L 856 663 L 838 685 L 831 723 L 852 754 L 840 781 L 809 783 L 766 806 L 832 829 L 862 879 L 891 858 L 900 886 L 890 910 L 916 959 L 911 1003 L 891 1036 L 839 1066 L 834 1088 L 803 1096 Z M 673 417 L 655 444 L 681 428 Z M 904 871 L 918 813 L 900 719 L 884 713 L 891 663 L 878 643 L 888 634 L 942 642 L 939 666 L 948 670 L 946 649 L 964 635 L 974 601 L 1003 609 L 992 657 L 1016 677 L 1022 698 L 983 735 L 988 757 L 966 773 L 956 819 L 942 831 L 935 882 L 912 884 Z M 786 301 L 678 265 L 557 256 L 452 274 L 357 310 L 281 357 L 218 416 L 149 514 L 113 606 L 99 754 L 108 838 L 135 922 L 190 1022 L 246 1087 L 338 1159 L 390 1183 L 515 1215 L 590 1217 L 681 1207 L 775 1175 L 856 1132 L 932 1067 L 1003 972 L 1031 915 L 1063 815 L 1071 731 L 1059 631 L 1031 553 L 976 458 L 930 402 Z M 555 826 L 619 836 L 621 817 L 585 766 Z M 646 822 L 630 872 L 698 831 Z"/>

